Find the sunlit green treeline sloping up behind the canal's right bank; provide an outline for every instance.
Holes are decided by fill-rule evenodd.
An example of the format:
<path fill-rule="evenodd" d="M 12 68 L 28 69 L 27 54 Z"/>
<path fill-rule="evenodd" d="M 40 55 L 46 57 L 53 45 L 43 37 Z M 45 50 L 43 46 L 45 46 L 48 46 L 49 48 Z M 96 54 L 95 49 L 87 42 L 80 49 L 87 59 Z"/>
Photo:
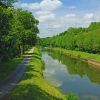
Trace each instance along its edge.
<path fill-rule="evenodd" d="M 100 22 L 92 22 L 88 28 L 69 28 L 59 35 L 38 39 L 38 44 L 100 53 Z"/>

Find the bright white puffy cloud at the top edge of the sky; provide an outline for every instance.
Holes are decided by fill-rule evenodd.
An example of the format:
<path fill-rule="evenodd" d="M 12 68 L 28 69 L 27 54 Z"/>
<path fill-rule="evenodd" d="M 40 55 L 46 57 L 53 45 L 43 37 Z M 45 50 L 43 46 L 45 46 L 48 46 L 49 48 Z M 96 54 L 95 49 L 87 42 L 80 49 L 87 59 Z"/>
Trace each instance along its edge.
<path fill-rule="evenodd" d="M 60 0 L 42 0 L 40 3 L 14 3 L 15 7 L 27 8 L 31 10 L 53 11 L 62 6 Z"/>

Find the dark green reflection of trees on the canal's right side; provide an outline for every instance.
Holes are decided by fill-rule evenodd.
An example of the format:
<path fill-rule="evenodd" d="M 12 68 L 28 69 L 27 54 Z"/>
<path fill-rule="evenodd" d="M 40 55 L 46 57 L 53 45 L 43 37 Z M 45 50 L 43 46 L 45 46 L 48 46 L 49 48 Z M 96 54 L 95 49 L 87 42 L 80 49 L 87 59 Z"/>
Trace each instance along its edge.
<path fill-rule="evenodd" d="M 59 62 L 65 64 L 69 74 L 80 75 L 80 77 L 86 75 L 91 82 L 100 84 L 100 70 L 93 68 L 88 63 L 62 55 L 59 52 L 49 52 L 49 55 L 53 59 L 58 59 Z"/>

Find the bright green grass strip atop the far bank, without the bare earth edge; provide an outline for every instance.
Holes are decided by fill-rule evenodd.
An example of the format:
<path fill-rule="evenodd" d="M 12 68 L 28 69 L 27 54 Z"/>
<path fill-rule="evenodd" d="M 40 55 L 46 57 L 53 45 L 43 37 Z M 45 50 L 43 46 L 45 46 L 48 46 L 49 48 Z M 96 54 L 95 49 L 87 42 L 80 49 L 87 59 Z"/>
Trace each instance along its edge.
<path fill-rule="evenodd" d="M 100 62 L 100 55 L 99 54 L 91 54 L 91 53 L 86 53 L 86 52 L 81 52 L 81 51 L 73 51 L 73 50 L 66 50 L 63 48 L 53 48 L 51 49 L 53 51 L 59 51 L 65 55 L 69 55 L 75 58 L 82 58 L 84 60 L 93 60 Z"/>

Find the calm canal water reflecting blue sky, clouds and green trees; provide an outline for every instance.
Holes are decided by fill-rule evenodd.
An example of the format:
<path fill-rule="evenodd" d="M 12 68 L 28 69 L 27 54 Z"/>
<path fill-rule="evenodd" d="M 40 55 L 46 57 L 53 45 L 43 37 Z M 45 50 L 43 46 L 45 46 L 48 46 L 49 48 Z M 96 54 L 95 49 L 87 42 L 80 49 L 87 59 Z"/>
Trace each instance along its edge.
<path fill-rule="evenodd" d="M 60 52 L 43 52 L 44 77 L 64 94 L 73 92 L 80 100 L 100 100 L 100 70 Z"/>

